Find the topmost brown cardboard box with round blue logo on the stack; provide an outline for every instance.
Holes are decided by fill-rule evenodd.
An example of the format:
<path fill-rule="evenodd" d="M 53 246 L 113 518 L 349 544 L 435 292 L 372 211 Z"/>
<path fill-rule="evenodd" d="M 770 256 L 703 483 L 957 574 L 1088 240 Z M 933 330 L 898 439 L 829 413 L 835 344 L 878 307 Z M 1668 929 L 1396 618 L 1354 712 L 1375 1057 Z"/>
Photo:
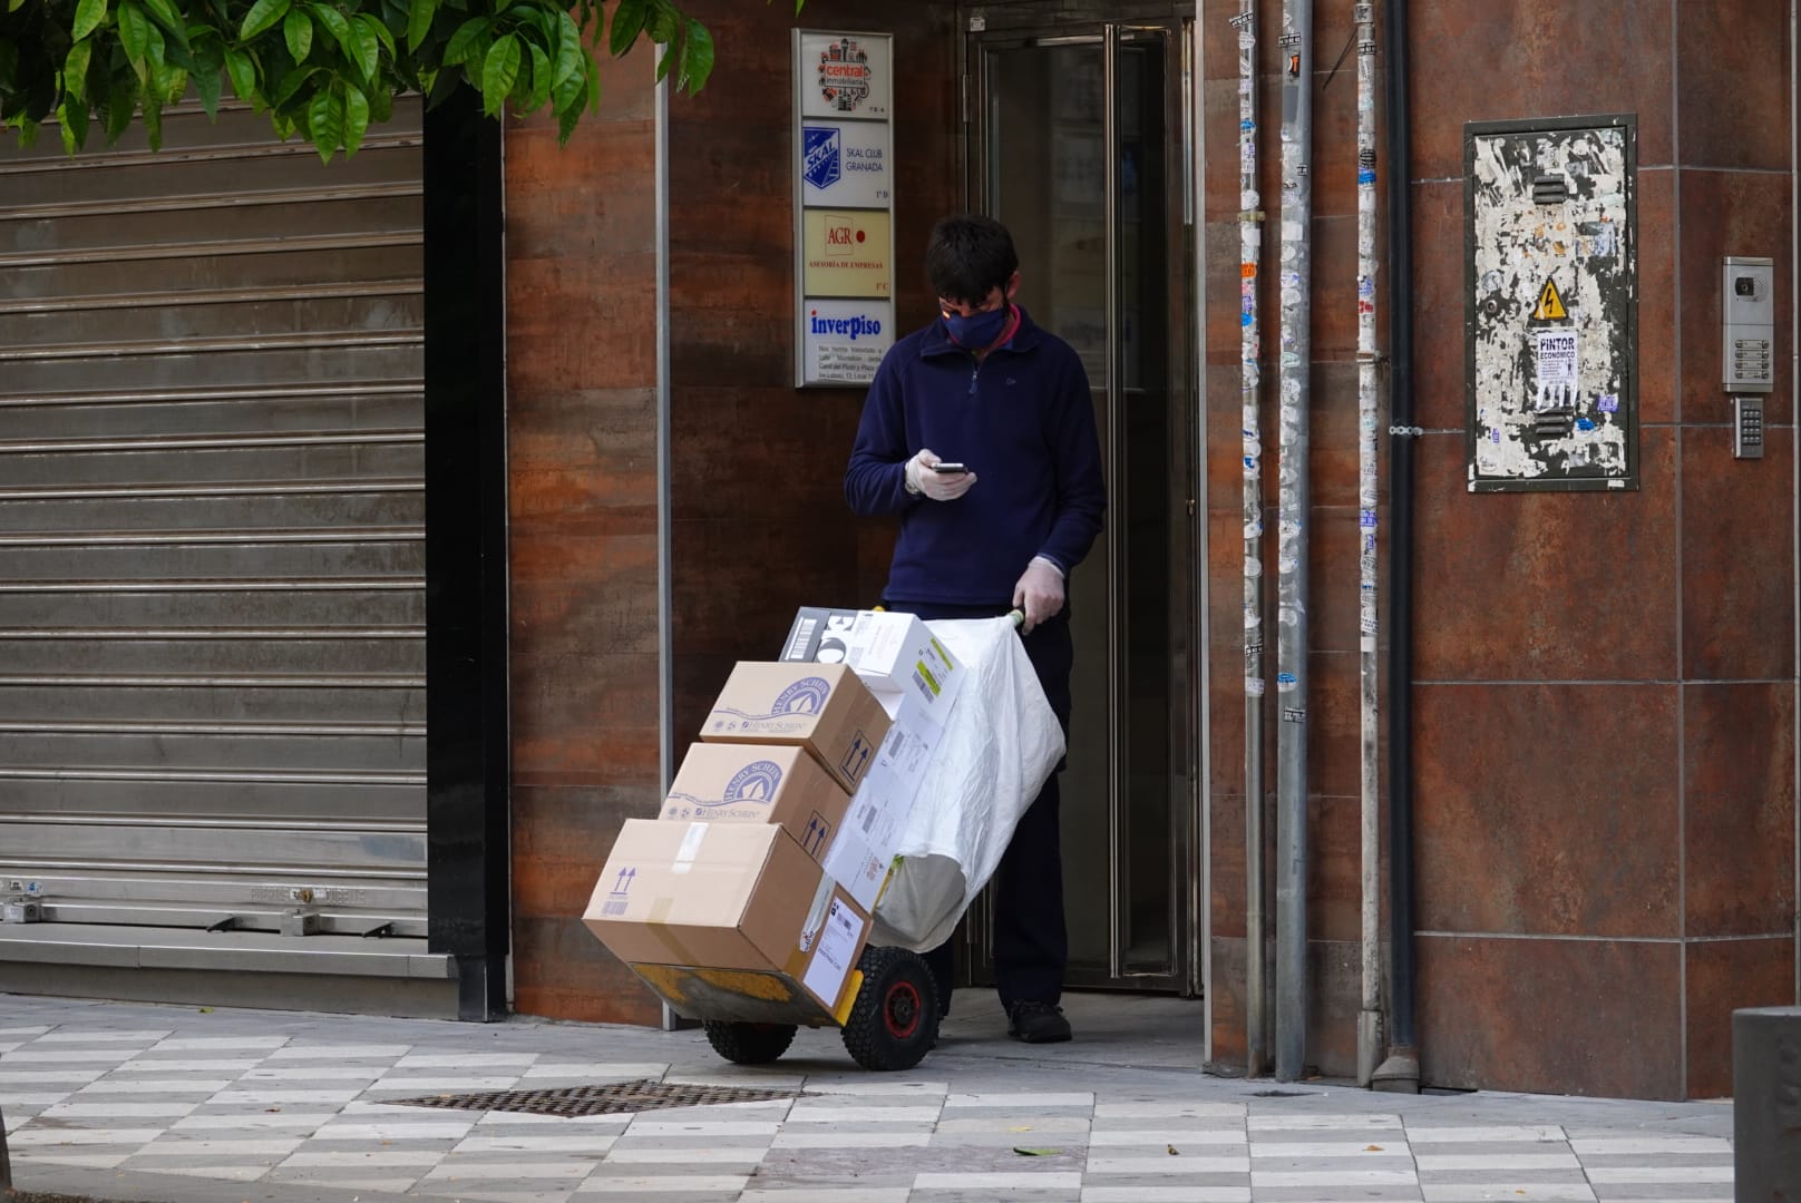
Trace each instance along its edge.
<path fill-rule="evenodd" d="M 875 695 L 843 665 L 742 661 L 701 728 L 710 744 L 796 744 L 855 792 L 888 735 Z"/>

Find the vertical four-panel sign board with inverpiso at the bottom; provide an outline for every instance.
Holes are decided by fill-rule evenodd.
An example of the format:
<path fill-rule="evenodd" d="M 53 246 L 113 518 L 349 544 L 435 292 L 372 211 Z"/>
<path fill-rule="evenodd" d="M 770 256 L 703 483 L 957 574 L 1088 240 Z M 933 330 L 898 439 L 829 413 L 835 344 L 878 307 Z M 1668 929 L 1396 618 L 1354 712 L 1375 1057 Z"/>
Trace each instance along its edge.
<path fill-rule="evenodd" d="M 866 385 L 893 346 L 893 38 L 794 31 L 794 387 Z"/>

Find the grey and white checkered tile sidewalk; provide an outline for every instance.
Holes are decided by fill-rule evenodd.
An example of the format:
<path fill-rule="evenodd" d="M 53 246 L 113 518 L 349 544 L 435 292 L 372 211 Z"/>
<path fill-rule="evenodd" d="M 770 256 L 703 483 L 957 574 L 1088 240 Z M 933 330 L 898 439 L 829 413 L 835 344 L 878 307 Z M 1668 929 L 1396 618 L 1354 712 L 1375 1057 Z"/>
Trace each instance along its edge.
<path fill-rule="evenodd" d="M 1198 1003 L 1075 994 L 1055 1046 L 1007 1041 L 992 994 L 956 1005 L 917 1070 L 866 1073 L 830 1030 L 744 1068 L 693 1030 L 0 994 L 0 1109 L 22 1190 L 149 1203 L 1733 1198 L 1724 1102 L 1246 1082 L 1199 1072 Z M 393 1104 L 647 1077 L 805 1093 L 593 1118 Z"/>

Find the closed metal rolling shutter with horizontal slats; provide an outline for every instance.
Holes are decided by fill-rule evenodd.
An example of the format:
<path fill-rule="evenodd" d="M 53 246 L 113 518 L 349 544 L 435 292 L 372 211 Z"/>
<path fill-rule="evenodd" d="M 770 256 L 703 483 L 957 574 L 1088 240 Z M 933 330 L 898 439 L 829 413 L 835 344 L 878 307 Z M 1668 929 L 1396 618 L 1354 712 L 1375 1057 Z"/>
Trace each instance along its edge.
<path fill-rule="evenodd" d="M 425 935 L 420 121 L 0 144 L 0 890 L 43 933 Z"/>

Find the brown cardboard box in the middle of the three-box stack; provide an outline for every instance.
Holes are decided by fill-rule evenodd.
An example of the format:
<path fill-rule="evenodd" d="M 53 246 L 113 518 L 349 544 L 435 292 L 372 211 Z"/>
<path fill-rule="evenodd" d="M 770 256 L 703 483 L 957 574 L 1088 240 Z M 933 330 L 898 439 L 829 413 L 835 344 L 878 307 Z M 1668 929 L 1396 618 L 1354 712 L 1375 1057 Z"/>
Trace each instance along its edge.
<path fill-rule="evenodd" d="M 819 861 L 848 809 L 850 798 L 805 747 L 695 744 L 670 783 L 661 818 L 774 823 Z"/>

